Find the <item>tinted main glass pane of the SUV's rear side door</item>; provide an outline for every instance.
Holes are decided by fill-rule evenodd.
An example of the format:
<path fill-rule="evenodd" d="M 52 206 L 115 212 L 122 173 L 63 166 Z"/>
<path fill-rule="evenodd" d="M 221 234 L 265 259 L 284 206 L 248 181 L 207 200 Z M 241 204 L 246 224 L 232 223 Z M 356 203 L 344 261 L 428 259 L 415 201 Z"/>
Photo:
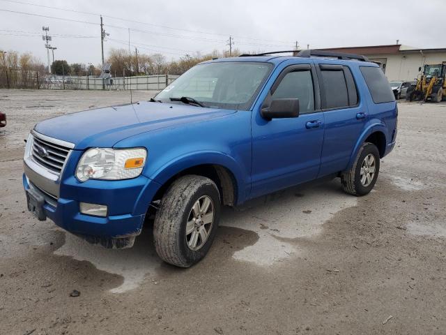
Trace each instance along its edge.
<path fill-rule="evenodd" d="M 321 70 L 322 84 L 325 92 L 323 108 L 348 106 L 348 91 L 344 71 Z"/>

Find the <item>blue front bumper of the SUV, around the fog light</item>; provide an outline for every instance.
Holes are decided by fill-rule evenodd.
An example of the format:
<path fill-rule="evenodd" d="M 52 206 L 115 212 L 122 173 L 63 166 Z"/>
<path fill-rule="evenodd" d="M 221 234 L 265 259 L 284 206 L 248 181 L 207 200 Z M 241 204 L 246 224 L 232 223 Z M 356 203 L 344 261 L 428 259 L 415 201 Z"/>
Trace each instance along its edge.
<path fill-rule="evenodd" d="M 63 174 L 57 180 L 38 174 L 32 164 L 25 160 L 25 191 L 32 188 L 32 192 L 44 198 L 43 214 L 64 230 L 108 248 L 131 247 L 135 237 L 141 233 L 146 211 L 160 184 L 144 176 L 82 183 L 72 173 L 77 156 L 81 154 L 81 151 L 71 152 Z M 105 204 L 108 207 L 107 216 L 82 214 L 79 202 Z"/>

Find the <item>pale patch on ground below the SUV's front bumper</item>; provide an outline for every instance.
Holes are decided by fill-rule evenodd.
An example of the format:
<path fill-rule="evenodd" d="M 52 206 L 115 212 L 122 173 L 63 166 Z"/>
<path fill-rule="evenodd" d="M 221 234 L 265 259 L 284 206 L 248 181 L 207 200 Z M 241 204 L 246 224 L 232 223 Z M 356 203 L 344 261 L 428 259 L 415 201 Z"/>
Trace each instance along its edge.
<path fill-rule="evenodd" d="M 123 276 L 122 285 L 110 290 L 112 293 L 123 293 L 137 288 L 146 276 L 155 274 L 155 269 L 162 264 L 155 253 L 151 236 L 152 230 L 145 229 L 132 248 L 116 250 L 89 244 L 66 233 L 65 244 L 54 251 L 54 254 L 86 260 L 97 269 Z"/>

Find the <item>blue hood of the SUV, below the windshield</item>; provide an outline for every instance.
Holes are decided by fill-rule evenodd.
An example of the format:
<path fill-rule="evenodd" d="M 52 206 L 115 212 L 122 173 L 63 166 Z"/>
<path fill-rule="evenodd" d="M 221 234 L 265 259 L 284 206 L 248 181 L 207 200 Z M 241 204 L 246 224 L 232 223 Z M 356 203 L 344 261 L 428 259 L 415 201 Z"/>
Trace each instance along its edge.
<path fill-rule="evenodd" d="M 116 142 L 139 133 L 206 121 L 234 112 L 143 101 L 54 117 L 38 123 L 34 129 L 43 135 L 71 142 L 75 149 L 112 147 Z"/>

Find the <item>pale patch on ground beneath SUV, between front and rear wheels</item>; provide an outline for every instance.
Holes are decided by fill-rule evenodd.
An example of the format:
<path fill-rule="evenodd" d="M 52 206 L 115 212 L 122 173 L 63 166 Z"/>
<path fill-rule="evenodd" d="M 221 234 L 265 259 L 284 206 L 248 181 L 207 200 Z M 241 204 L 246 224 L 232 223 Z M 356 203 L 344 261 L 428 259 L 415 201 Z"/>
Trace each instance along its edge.
<path fill-rule="evenodd" d="M 312 237 L 337 211 L 357 204 L 357 198 L 345 194 L 339 181 L 305 191 L 289 190 L 275 200 L 257 200 L 249 207 L 225 210 L 220 225 L 252 230 L 259 240 L 236 251 L 233 258 L 268 266 L 300 253 L 294 245 L 279 238 Z"/>

